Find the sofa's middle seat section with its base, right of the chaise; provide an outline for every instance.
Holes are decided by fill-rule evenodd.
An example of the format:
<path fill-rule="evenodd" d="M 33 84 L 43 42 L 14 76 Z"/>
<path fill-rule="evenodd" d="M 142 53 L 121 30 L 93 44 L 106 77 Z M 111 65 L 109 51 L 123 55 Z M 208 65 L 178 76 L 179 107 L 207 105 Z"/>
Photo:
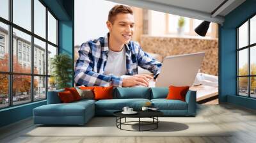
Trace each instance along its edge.
<path fill-rule="evenodd" d="M 113 112 L 122 110 L 126 106 L 140 110 L 146 102 L 150 102 L 150 100 L 142 98 L 99 100 L 95 102 L 95 114 L 97 116 L 113 116 Z"/>

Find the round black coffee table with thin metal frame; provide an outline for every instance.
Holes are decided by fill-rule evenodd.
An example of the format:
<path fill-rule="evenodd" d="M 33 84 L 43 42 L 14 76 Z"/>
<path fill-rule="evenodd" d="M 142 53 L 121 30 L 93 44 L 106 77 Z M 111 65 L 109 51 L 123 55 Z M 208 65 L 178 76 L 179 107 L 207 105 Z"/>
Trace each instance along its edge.
<path fill-rule="evenodd" d="M 158 128 L 159 123 L 159 116 L 163 116 L 163 112 L 159 110 L 138 110 L 137 114 L 122 114 L 122 110 L 114 112 L 114 116 L 116 116 L 116 127 L 120 130 L 126 130 L 122 128 L 122 125 L 131 125 L 131 126 L 138 126 L 139 130 L 127 130 L 127 131 L 150 131 Z M 127 117 L 132 118 L 138 118 L 138 121 L 126 121 Z M 152 121 L 141 121 L 141 118 L 151 118 Z M 122 122 L 122 119 L 125 119 L 124 122 Z M 138 123 L 138 124 L 132 124 L 132 123 Z M 141 126 L 148 126 L 148 125 L 154 125 L 153 128 L 150 128 L 148 130 L 141 130 Z"/>

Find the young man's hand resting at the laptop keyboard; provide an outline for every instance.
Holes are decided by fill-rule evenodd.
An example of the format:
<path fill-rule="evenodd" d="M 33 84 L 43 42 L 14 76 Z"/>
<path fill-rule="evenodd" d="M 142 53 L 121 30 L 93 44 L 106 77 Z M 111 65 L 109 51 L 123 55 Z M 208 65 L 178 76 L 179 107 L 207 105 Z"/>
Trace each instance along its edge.
<path fill-rule="evenodd" d="M 148 87 L 148 80 L 153 79 L 152 74 L 140 74 L 133 75 L 131 77 L 125 77 L 123 79 L 122 87 L 131 87 L 131 86 L 145 86 Z"/>

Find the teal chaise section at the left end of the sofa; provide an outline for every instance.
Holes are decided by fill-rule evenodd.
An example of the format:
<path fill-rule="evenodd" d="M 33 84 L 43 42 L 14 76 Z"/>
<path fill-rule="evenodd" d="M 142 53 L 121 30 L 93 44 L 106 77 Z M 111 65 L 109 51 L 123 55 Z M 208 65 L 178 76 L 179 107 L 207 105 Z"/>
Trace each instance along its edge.
<path fill-rule="evenodd" d="M 95 115 L 92 100 L 47 104 L 33 109 L 35 124 L 85 124 Z"/>

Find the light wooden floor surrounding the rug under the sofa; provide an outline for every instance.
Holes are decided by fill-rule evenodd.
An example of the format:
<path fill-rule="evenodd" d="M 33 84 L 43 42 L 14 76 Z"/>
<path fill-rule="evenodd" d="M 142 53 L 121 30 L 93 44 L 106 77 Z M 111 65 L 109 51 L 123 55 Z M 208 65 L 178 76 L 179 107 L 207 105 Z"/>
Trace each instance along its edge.
<path fill-rule="evenodd" d="M 32 119 L 12 124 L 0 129 L 0 142 L 127 142 L 127 143 L 160 143 L 160 142 L 256 142 L 256 111 L 236 107 L 234 105 L 198 105 L 197 116 L 204 117 L 220 128 L 233 130 L 228 137 L 24 137 L 24 132 L 33 128 Z M 204 126 L 204 124 L 198 124 Z M 60 129 L 61 130 L 61 129 Z M 204 128 L 202 128 L 204 130 Z M 110 131 L 111 132 L 111 131 Z"/>

